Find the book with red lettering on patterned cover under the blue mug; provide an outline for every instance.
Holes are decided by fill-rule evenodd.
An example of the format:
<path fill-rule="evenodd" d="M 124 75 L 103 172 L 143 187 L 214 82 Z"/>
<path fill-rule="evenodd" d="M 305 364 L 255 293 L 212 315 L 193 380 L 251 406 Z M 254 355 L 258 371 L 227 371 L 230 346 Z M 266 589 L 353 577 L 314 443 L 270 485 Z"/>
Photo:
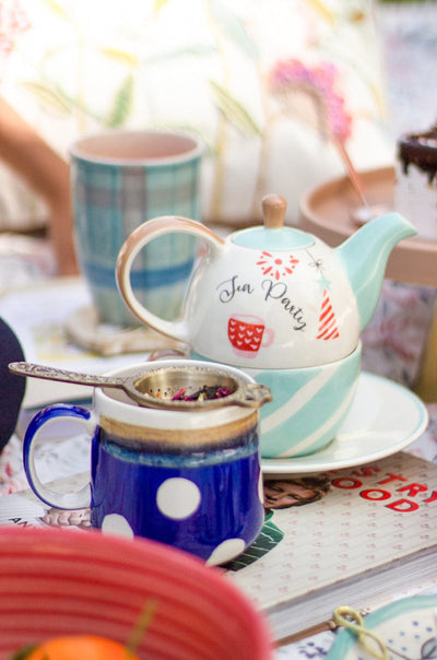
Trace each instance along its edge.
<path fill-rule="evenodd" d="M 436 464 L 399 452 L 308 476 L 306 491 L 321 498 L 304 506 L 300 479 L 276 476 L 270 488 L 265 481 L 272 507 L 296 485 L 298 502 L 270 508 L 258 541 L 228 565 L 276 639 L 329 622 L 338 605 L 367 612 L 437 590 Z"/>

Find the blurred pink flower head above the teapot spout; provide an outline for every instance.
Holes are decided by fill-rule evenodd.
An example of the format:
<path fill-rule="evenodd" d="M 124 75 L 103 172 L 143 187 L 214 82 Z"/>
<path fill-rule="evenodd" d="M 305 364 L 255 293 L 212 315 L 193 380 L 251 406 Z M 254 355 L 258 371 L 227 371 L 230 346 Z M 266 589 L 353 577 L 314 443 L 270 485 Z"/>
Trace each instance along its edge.
<path fill-rule="evenodd" d="M 303 91 L 320 101 L 323 117 L 331 135 L 344 142 L 351 134 L 352 118 L 347 113 L 344 98 L 335 92 L 338 70 L 330 62 L 314 68 L 306 67 L 297 59 L 276 63 L 270 74 L 270 84 L 274 92 L 283 94 Z"/>

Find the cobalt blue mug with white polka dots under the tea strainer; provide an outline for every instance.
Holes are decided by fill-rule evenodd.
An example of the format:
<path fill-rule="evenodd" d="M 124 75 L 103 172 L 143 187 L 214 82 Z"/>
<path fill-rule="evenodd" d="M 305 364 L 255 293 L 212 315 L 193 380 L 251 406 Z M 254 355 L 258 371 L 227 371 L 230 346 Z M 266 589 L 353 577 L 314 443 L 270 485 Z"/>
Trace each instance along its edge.
<path fill-rule="evenodd" d="M 141 374 L 161 382 L 163 374 L 165 378 L 170 374 L 178 391 L 192 372 L 209 384 L 259 388 L 233 367 L 186 360 L 144 363 L 111 375 Z M 164 396 L 161 385 L 155 393 Z M 206 402 L 194 410 L 190 402 L 188 410 L 184 402 L 179 408 L 179 402 L 169 405 L 175 409 L 142 408 L 123 391 L 108 388 L 94 390 L 92 410 L 50 405 L 27 428 L 26 476 L 35 494 L 50 506 L 91 507 L 94 528 L 146 537 L 210 564 L 225 563 L 252 543 L 263 523 L 261 403 L 210 408 Z M 91 483 L 74 494 L 44 485 L 35 469 L 39 433 L 54 420 L 75 420 L 92 438 Z"/>

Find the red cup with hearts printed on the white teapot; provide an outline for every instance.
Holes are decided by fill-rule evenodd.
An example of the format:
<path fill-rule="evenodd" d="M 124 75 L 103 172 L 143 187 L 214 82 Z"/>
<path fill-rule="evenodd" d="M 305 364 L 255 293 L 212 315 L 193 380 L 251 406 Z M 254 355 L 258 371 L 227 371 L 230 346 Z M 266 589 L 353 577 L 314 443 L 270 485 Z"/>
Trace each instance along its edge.
<path fill-rule="evenodd" d="M 227 337 L 234 353 L 255 357 L 261 346 L 270 346 L 274 330 L 265 328 L 264 321 L 249 314 L 234 314 L 227 321 Z"/>

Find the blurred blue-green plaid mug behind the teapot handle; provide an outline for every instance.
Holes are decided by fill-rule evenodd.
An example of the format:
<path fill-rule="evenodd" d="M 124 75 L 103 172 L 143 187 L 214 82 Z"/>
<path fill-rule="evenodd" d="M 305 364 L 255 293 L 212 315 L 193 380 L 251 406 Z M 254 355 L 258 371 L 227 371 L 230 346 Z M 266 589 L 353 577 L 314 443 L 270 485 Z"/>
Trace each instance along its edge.
<path fill-rule="evenodd" d="M 199 220 L 202 152 L 197 138 L 169 131 L 114 131 L 72 145 L 75 249 L 101 322 L 138 325 L 117 290 L 118 252 L 135 227 L 156 215 Z M 132 267 L 139 299 L 166 319 L 179 313 L 196 246 L 192 236 L 163 236 Z"/>

